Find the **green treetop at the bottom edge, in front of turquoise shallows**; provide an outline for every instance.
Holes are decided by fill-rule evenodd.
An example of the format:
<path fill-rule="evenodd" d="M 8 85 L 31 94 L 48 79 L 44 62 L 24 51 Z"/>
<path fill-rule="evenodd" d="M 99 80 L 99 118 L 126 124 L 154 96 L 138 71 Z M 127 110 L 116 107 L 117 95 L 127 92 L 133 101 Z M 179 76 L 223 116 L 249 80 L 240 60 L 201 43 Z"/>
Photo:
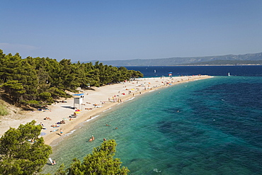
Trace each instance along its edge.
<path fill-rule="evenodd" d="M 57 175 L 61 174 L 127 174 L 129 170 L 127 167 L 123 166 L 121 168 L 122 162 L 120 159 L 114 159 L 115 155 L 115 140 L 104 141 L 101 146 L 93 148 L 92 154 L 87 154 L 84 157 L 83 162 L 79 159 L 73 159 L 73 163 L 64 171 L 64 164 L 60 166 L 57 171 Z"/>

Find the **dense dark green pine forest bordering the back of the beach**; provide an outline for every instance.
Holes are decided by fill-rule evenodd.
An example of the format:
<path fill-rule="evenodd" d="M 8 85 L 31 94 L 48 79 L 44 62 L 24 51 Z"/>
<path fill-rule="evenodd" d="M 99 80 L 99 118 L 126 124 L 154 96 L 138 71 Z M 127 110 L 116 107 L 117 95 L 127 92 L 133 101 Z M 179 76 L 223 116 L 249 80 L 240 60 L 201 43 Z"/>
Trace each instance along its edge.
<path fill-rule="evenodd" d="M 55 98 L 68 97 L 65 93 L 77 87 L 103 86 L 143 77 L 141 72 L 113 67 L 96 62 L 57 62 L 49 57 L 5 55 L 0 50 L 0 89 L 12 103 L 53 103 Z"/>

